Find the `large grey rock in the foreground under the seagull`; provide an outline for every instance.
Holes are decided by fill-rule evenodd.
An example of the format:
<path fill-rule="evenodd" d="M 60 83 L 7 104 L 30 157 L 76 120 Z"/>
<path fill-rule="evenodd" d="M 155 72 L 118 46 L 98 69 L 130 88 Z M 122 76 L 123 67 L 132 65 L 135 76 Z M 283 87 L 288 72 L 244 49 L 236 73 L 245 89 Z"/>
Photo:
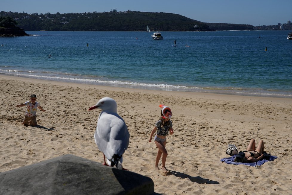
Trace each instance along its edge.
<path fill-rule="evenodd" d="M 152 179 L 70 154 L 0 173 L 0 194 L 153 194 Z"/>

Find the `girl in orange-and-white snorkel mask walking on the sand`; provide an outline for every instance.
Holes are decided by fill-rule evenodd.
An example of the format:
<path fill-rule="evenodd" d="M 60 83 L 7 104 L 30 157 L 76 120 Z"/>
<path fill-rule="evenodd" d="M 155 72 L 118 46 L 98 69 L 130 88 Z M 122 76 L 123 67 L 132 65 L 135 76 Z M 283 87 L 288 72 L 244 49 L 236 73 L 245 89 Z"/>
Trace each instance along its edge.
<path fill-rule="evenodd" d="M 165 145 L 166 145 L 166 136 L 168 135 L 168 131 L 170 135 L 173 134 L 172 122 L 170 121 L 172 112 L 171 112 L 171 109 L 167 106 L 160 105 L 159 107 L 162 108 L 160 112 L 161 117 L 156 122 L 155 127 L 151 132 L 149 142 L 152 141 L 152 137 L 157 130 L 157 133 L 154 137 L 154 142 L 158 148 L 156 161 L 155 161 L 155 169 L 159 170 L 158 163 L 162 155 L 162 170 L 163 172 L 167 173 L 169 171 L 165 167 L 165 162 L 166 162 L 166 157 L 167 157 L 167 150 L 165 148 Z"/>

